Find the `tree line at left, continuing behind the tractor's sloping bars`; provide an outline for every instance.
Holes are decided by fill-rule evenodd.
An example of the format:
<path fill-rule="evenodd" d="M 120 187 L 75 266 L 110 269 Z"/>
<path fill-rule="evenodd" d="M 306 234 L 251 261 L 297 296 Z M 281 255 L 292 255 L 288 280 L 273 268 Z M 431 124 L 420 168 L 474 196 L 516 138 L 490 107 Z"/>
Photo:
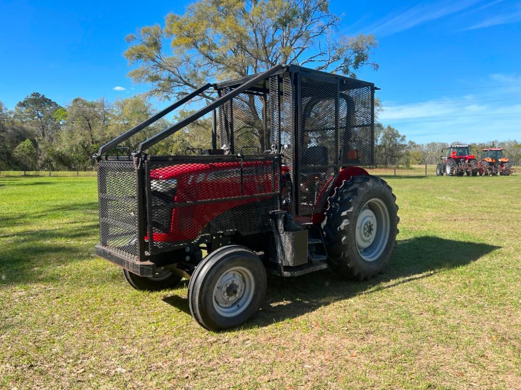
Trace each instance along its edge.
<path fill-rule="evenodd" d="M 108 140 L 141 123 L 154 113 L 141 95 L 108 102 L 78 97 L 60 106 L 34 92 L 19 101 L 14 110 L 0 102 L 0 169 L 45 171 L 90 171 L 92 155 Z M 180 111 L 177 121 L 189 111 Z M 159 120 L 121 144 L 117 151 L 128 154 L 140 142 L 171 124 Z M 150 150 L 155 154 L 181 154 L 185 148 L 209 145 L 209 119 L 203 119 L 169 137 Z M 113 151 L 116 152 L 116 151 Z"/>

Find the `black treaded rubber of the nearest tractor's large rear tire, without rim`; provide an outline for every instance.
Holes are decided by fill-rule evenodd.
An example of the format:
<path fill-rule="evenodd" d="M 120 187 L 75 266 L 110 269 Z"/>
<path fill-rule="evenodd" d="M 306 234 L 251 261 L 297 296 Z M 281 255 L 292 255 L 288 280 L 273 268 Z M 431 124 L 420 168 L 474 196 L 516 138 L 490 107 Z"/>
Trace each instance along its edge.
<path fill-rule="evenodd" d="M 384 246 L 379 256 L 367 261 L 357 245 L 356 225 L 359 224 L 359 216 L 366 210 L 364 206 L 375 199 L 388 210 L 389 235 L 387 243 L 382 244 Z M 353 176 L 335 189 L 328 202 L 322 229 L 332 270 L 343 277 L 358 280 L 379 274 L 389 262 L 399 232 L 398 205 L 392 188 L 379 177 Z"/>

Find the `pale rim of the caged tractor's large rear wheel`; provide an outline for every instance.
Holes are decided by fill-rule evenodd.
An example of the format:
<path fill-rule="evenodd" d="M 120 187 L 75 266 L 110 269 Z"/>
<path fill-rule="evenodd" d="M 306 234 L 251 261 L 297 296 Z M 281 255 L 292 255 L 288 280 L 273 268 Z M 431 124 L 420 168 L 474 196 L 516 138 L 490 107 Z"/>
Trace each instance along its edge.
<path fill-rule="evenodd" d="M 355 241 L 358 253 L 367 262 L 377 260 L 386 249 L 391 231 L 387 205 L 378 198 L 366 202 L 356 219 Z"/>

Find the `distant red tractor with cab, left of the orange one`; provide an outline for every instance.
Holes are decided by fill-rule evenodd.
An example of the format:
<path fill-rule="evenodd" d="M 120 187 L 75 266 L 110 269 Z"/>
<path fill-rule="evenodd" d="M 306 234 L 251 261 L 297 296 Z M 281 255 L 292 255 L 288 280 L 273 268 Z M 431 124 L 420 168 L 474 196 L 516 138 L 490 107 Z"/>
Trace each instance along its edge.
<path fill-rule="evenodd" d="M 476 176 L 479 171 L 476 156 L 470 154 L 468 145 L 451 145 L 441 149 L 446 154 L 441 157 L 441 163 L 436 166 L 436 175 L 443 176 Z"/>

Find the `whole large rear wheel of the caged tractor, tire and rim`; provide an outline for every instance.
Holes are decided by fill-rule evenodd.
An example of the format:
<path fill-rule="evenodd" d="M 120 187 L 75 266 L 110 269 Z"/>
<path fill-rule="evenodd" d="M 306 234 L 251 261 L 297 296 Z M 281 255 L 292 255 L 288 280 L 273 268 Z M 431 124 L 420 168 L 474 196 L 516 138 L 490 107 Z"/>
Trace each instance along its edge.
<path fill-rule="evenodd" d="M 379 177 L 353 176 L 328 202 L 322 229 L 331 269 L 358 280 L 379 274 L 398 235 L 400 218 L 392 188 Z"/>

